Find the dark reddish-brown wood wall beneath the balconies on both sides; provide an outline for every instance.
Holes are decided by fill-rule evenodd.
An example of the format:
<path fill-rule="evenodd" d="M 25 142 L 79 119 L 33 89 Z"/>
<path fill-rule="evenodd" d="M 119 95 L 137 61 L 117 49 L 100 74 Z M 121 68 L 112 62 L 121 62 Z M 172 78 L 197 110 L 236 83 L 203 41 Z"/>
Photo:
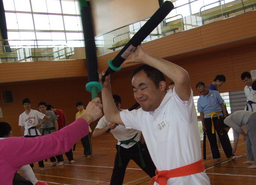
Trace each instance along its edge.
<path fill-rule="evenodd" d="M 255 51 L 256 44 L 250 44 L 181 59 L 173 61 L 173 63 L 188 71 L 194 96 L 199 95 L 195 88 L 198 81 L 202 80 L 210 85 L 217 74 L 226 76 L 225 84 L 219 88 L 220 92 L 243 90 L 245 85 L 242 83 L 240 75 L 244 71 L 256 69 Z M 132 71 L 136 67 L 138 65 L 124 67 L 119 72 L 111 75 L 113 93 L 121 97 L 122 108 L 124 109 L 128 109 L 136 103 L 131 86 Z M 169 82 L 171 80 L 166 78 L 167 85 Z M 12 90 L 15 95 L 15 103 L 13 104 L 3 105 L 0 101 L 4 116 L 0 118 L 0 121 L 11 124 L 14 136 L 21 136 L 19 134 L 20 127 L 18 126 L 19 115 L 24 111 L 22 100 L 28 97 L 31 100 L 32 109 L 38 110 L 38 103 L 45 101 L 55 108 L 62 109 L 68 123 L 71 123 L 75 120 L 75 114 L 78 111 L 75 102 L 83 101 L 84 104 L 87 104 L 91 100 L 91 94 L 85 89 L 86 83 L 86 77 L 0 83 L 0 91 Z M 101 97 L 101 93 L 98 96 Z M 91 123 L 91 127 L 94 128 L 96 124 L 97 122 Z"/>

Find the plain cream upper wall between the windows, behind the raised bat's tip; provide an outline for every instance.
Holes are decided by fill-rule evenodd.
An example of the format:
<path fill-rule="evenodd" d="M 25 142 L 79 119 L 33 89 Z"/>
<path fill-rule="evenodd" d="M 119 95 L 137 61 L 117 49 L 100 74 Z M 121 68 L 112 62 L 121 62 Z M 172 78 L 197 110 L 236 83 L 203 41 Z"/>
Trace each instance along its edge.
<path fill-rule="evenodd" d="M 90 7 L 96 36 L 152 16 L 159 3 L 158 0 L 91 0 Z"/>

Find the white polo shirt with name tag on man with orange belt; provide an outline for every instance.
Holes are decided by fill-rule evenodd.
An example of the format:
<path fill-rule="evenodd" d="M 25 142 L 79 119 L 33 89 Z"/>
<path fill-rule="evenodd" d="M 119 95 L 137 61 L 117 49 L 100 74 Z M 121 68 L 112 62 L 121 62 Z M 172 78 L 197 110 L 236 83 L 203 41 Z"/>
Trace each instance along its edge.
<path fill-rule="evenodd" d="M 159 171 L 172 170 L 202 159 L 193 93 L 188 101 L 166 93 L 160 106 L 151 112 L 138 110 L 120 112 L 125 126 L 141 130 L 151 158 Z M 157 184 L 157 183 L 155 183 Z M 205 172 L 170 178 L 168 185 L 210 185 Z"/>

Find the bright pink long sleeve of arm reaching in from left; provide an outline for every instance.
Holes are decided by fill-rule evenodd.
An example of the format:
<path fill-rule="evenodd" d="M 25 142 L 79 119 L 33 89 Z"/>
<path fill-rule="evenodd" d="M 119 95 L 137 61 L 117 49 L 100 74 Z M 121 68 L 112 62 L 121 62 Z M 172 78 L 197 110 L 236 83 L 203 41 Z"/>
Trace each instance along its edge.
<path fill-rule="evenodd" d="M 89 133 L 87 122 L 78 118 L 58 132 L 41 137 L 9 137 L 0 142 L 0 158 L 14 170 L 49 157 L 68 152 L 82 137 Z"/>

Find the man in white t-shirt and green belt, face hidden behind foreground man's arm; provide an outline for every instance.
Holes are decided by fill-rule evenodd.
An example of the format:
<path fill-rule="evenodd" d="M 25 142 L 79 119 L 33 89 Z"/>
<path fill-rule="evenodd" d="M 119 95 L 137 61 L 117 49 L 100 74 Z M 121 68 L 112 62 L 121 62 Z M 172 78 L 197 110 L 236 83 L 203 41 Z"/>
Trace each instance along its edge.
<path fill-rule="evenodd" d="M 113 94 L 118 111 L 121 108 L 120 96 Z M 151 178 L 154 177 L 155 166 L 150 157 L 144 138 L 138 130 L 126 129 L 123 125 L 116 125 L 108 122 L 103 116 L 96 126 L 93 137 L 99 137 L 107 130 L 117 139 L 117 154 L 114 163 L 114 169 L 111 176 L 110 185 L 122 185 L 124 175 L 129 161 L 132 159 L 142 170 L 144 170 Z"/>

